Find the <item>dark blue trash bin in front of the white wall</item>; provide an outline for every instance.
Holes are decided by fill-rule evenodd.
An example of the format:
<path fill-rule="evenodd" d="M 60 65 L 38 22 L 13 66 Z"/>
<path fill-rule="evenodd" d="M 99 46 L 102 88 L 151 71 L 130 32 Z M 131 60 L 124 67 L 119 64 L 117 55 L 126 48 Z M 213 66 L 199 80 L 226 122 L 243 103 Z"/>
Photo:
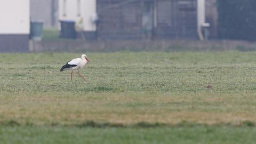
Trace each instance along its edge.
<path fill-rule="evenodd" d="M 60 38 L 76 39 L 75 21 L 60 21 Z"/>

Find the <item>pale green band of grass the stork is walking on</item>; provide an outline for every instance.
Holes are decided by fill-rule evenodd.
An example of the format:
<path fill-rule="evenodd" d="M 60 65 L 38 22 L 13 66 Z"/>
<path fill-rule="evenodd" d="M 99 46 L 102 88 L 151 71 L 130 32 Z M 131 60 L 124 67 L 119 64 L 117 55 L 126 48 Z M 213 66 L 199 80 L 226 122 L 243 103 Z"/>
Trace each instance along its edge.
<path fill-rule="evenodd" d="M 59 69 L 81 54 L 1 54 L 3 94 L 255 92 L 255 53 L 89 53 L 86 82 Z M 5 61 L 5 59 L 7 59 Z M 212 85 L 211 90 L 206 86 Z"/>

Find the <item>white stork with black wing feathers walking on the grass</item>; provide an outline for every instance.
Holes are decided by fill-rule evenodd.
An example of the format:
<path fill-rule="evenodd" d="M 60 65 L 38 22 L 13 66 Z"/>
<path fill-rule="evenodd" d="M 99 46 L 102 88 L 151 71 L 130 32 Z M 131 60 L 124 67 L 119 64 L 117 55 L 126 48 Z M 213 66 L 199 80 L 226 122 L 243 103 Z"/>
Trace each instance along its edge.
<path fill-rule="evenodd" d="M 90 60 L 87 58 L 85 54 L 83 54 L 82 58 L 76 58 L 67 62 L 66 65 L 62 66 L 60 71 L 71 69 L 70 74 L 71 74 L 71 81 L 72 81 L 73 71 L 77 70 L 77 74 L 81 76 L 85 81 L 85 78 L 79 73 L 79 69 L 84 68 L 87 62 L 90 62 Z"/>

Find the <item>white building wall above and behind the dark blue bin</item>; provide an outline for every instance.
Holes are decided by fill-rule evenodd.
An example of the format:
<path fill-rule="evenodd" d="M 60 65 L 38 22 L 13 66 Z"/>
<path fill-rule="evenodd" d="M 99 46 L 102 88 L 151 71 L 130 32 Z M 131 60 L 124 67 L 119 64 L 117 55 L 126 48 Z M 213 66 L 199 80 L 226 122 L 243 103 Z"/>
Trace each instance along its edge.
<path fill-rule="evenodd" d="M 81 1 L 80 5 L 78 5 L 78 1 Z M 80 12 L 78 11 L 79 9 L 81 10 Z M 95 13 L 96 0 L 59 0 L 59 20 L 78 21 L 83 18 L 84 31 L 96 30 L 95 23 L 91 21 L 91 17 Z"/>

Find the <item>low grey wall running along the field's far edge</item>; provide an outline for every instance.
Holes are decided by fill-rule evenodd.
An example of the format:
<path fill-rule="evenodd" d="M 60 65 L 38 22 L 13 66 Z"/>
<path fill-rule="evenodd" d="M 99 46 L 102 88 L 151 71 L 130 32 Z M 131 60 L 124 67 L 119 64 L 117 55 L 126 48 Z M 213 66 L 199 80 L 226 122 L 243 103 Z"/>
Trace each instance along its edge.
<path fill-rule="evenodd" d="M 31 52 L 115 51 L 255 51 L 256 42 L 246 41 L 58 41 L 32 42 Z"/>

